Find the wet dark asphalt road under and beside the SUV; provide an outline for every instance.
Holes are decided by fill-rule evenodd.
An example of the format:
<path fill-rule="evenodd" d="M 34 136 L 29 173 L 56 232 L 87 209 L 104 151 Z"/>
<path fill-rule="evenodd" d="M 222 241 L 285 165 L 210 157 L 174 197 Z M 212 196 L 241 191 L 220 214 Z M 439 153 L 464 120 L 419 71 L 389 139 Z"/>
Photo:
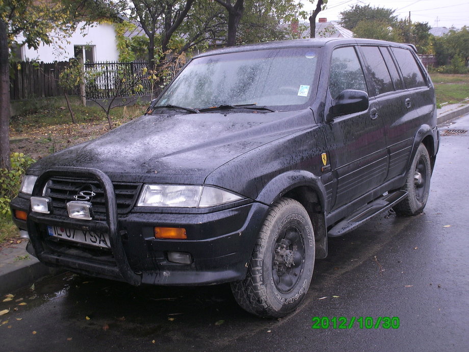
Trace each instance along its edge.
<path fill-rule="evenodd" d="M 456 128 L 469 130 L 469 115 Z M 286 318 L 250 316 L 227 285 L 135 288 L 64 274 L 0 301 L 11 309 L 0 350 L 468 350 L 468 165 L 469 132 L 442 136 L 425 212 L 330 239 L 304 304 Z M 311 329 L 314 317 L 398 317 L 399 328 Z"/>

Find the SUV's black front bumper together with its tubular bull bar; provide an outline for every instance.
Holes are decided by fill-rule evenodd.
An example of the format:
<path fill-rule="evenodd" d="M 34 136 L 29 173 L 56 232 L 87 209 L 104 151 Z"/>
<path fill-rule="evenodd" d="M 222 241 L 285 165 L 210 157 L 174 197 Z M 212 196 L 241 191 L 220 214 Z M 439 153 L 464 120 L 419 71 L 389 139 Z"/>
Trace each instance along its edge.
<path fill-rule="evenodd" d="M 51 175 L 63 171 L 54 169 L 43 173 L 33 195 L 42 190 Z M 70 170 L 67 174 L 70 175 Z M 106 221 L 31 212 L 29 197 L 19 196 L 11 203 L 12 210 L 28 212 L 27 221 L 15 218 L 14 221 L 20 229 L 28 231 L 30 251 L 41 262 L 133 285 L 209 285 L 245 277 L 268 211 L 266 205 L 253 202 L 211 213 L 153 213 L 148 209 L 140 212 L 137 208 L 118 216 L 113 209 L 112 183 L 105 174 L 90 169 L 74 169 L 73 174 L 99 180 L 106 190 Z M 47 225 L 106 232 L 111 250 L 57 240 L 48 236 Z M 188 238 L 155 239 L 154 227 L 185 228 Z M 189 253 L 193 261 L 191 264 L 170 262 L 168 252 Z"/>

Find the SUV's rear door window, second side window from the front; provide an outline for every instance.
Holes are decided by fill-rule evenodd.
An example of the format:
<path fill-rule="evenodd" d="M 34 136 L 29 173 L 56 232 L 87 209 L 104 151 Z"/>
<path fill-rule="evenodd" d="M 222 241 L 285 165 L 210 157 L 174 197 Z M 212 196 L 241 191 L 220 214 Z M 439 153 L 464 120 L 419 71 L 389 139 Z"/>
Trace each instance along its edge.
<path fill-rule="evenodd" d="M 389 71 L 387 70 L 379 48 L 377 46 L 362 46 L 361 51 L 366 60 L 371 80 L 373 81 L 375 94 L 378 95 L 394 91 L 391 76 L 389 75 Z"/>

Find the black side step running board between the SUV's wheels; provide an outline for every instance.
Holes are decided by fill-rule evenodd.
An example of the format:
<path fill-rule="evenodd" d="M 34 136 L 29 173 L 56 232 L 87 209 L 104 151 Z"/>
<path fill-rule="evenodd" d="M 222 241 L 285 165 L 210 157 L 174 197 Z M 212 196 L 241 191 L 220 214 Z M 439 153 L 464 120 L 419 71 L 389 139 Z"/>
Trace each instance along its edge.
<path fill-rule="evenodd" d="M 357 227 L 370 220 L 373 216 L 382 213 L 398 204 L 406 196 L 406 191 L 396 191 L 373 200 L 373 202 L 367 204 L 364 207 L 361 207 L 349 217 L 337 223 L 332 229 L 329 230 L 327 236 L 342 236 L 347 232 L 355 230 Z"/>

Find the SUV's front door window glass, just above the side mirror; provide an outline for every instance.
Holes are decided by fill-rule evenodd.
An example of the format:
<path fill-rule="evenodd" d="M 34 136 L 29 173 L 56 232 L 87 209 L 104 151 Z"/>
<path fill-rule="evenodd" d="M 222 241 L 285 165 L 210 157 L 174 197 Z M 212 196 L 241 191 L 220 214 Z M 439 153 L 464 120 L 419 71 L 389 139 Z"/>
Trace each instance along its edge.
<path fill-rule="evenodd" d="M 367 90 L 367 84 L 355 49 L 341 47 L 332 52 L 329 74 L 329 90 L 336 98 L 344 89 Z"/>

